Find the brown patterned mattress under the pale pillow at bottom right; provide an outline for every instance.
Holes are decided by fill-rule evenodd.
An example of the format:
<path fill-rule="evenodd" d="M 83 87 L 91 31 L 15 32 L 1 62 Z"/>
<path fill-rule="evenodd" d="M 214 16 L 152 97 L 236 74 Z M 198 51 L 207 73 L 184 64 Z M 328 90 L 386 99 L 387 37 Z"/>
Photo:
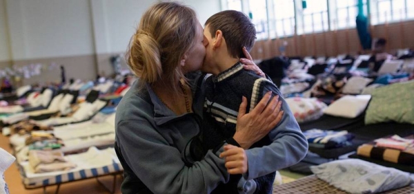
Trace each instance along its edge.
<path fill-rule="evenodd" d="M 339 190 L 335 186 L 331 186 L 328 182 L 320 180 L 315 175 L 302 177 L 294 182 L 273 186 L 273 193 L 318 193 L 318 194 L 345 194 L 347 192 Z M 414 193 L 414 184 L 405 186 L 392 191 L 386 191 L 388 194 L 410 194 Z"/>

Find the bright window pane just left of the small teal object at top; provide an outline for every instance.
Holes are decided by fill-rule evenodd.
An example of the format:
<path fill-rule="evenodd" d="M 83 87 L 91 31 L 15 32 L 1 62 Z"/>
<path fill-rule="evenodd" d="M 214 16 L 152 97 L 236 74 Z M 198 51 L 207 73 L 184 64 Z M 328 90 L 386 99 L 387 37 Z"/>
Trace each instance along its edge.
<path fill-rule="evenodd" d="M 269 13 L 270 38 L 295 34 L 295 2 L 293 0 L 270 1 L 273 8 Z"/>

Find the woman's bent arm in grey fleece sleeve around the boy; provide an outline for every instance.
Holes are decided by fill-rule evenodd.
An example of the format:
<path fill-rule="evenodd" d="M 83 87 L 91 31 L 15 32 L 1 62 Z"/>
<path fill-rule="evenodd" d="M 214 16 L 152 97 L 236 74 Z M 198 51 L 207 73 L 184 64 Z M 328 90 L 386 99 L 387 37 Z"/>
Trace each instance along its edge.
<path fill-rule="evenodd" d="M 204 160 L 186 166 L 179 150 L 147 120 L 119 122 L 117 143 L 130 169 L 153 193 L 209 193 L 228 181 L 224 160 L 208 151 Z"/>

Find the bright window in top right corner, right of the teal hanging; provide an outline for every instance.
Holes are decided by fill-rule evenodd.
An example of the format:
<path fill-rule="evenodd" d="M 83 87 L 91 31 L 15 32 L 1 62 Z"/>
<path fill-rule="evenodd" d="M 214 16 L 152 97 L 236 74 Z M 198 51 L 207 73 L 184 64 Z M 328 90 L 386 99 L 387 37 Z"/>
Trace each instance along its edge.
<path fill-rule="evenodd" d="M 413 0 L 371 0 L 371 23 L 373 25 L 413 19 Z"/>

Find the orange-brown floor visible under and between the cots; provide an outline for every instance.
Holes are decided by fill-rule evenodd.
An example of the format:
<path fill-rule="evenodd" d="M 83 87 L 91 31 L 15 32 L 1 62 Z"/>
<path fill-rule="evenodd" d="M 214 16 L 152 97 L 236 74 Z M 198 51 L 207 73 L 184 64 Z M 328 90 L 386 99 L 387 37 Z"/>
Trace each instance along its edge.
<path fill-rule="evenodd" d="M 0 147 L 5 149 L 9 153 L 12 152 L 9 146 L 9 140 L 7 137 L 0 134 Z M 279 171 L 282 175 L 282 181 L 284 183 L 292 182 L 304 175 L 298 173 L 291 173 L 289 171 Z M 26 189 L 22 184 L 22 180 L 17 169 L 16 164 L 12 164 L 4 173 L 6 183 L 8 184 L 10 193 L 19 193 L 19 194 L 37 194 L 43 193 L 43 188 L 33 188 Z M 99 180 L 105 184 L 107 188 L 112 189 L 112 176 L 99 177 Z M 121 193 L 119 187 L 121 186 L 121 177 L 117 177 L 117 182 L 115 186 L 115 193 Z M 48 186 L 46 188 L 46 193 L 55 193 L 57 186 Z M 77 182 L 71 182 L 62 184 L 59 188 L 60 194 L 66 193 L 110 193 L 108 192 L 96 179 L 81 180 Z"/>

